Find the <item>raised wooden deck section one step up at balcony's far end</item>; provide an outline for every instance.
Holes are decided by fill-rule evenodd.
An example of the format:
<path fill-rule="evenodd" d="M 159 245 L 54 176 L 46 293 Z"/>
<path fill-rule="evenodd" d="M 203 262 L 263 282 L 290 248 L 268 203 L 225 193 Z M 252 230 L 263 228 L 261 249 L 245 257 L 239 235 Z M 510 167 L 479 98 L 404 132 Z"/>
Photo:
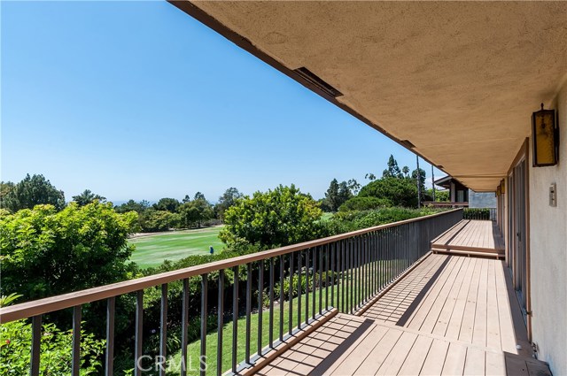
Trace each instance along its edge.
<path fill-rule="evenodd" d="M 431 242 L 433 251 L 468 255 L 504 256 L 504 240 L 490 220 L 462 220 Z"/>

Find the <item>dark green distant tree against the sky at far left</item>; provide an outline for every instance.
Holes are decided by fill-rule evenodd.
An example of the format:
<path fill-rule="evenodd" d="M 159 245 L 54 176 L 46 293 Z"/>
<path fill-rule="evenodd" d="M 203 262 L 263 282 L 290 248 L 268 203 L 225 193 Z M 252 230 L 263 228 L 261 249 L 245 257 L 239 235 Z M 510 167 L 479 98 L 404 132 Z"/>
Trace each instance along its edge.
<path fill-rule="evenodd" d="M 4 183 L 9 184 L 9 183 Z M 60 211 L 65 207 L 65 195 L 46 180 L 43 175 L 26 177 L 9 189 L 3 197 L 3 208 L 12 212 L 32 209 L 35 205 L 48 203 Z"/>

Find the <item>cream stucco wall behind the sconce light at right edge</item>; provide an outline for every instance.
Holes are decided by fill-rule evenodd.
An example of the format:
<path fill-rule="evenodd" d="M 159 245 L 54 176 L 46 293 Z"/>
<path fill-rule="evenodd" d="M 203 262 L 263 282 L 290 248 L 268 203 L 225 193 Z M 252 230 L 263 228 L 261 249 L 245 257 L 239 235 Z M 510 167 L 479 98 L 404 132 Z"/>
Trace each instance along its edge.
<path fill-rule="evenodd" d="M 560 160 L 555 166 L 530 168 L 532 341 L 555 375 L 567 375 L 567 83 L 546 108 L 559 114 Z M 548 203 L 554 182 L 557 207 Z"/>

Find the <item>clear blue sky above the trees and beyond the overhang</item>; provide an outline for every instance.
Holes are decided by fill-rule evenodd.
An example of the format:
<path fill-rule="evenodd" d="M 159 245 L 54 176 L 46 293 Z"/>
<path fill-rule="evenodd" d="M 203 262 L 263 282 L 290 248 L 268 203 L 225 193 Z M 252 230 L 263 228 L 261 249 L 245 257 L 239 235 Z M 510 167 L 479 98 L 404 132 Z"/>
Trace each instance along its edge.
<path fill-rule="evenodd" d="M 2 2 L 2 180 L 119 202 L 333 178 L 416 157 L 166 2 Z M 431 166 L 422 161 L 428 180 Z M 436 170 L 436 175 L 441 173 Z"/>

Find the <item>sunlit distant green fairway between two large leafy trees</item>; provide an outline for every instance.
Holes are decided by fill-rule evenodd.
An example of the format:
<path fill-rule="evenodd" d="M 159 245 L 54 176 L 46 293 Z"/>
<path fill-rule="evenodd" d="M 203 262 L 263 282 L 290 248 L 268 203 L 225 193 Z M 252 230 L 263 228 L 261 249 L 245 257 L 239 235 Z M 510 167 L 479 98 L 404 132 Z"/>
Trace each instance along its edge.
<path fill-rule="evenodd" d="M 176 261 L 190 255 L 206 255 L 210 246 L 215 252 L 221 251 L 224 247 L 219 239 L 221 228 L 215 226 L 130 239 L 128 242 L 136 246 L 130 260 L 147 268 L 158 266 L 166 259 Z"/>

